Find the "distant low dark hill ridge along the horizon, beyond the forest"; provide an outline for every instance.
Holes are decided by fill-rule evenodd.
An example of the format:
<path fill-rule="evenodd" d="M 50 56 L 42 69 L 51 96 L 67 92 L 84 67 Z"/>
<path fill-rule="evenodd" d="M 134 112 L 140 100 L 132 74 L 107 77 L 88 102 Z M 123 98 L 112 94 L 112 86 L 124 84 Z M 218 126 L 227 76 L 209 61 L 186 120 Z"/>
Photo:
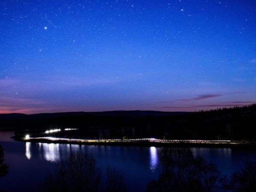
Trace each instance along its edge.
<path fill-rule="evenodd" d="M 176 114 L 185 114 L 187 112 L 163 112 L 163 111 L 102 111 L 102 112 L 64 112 L 64 113 L 37 113 L 26 115 L 23 113 L 0 114 L 0 120 L 14 119 L 45 119 L 60 116 L 171 116 Z"/>

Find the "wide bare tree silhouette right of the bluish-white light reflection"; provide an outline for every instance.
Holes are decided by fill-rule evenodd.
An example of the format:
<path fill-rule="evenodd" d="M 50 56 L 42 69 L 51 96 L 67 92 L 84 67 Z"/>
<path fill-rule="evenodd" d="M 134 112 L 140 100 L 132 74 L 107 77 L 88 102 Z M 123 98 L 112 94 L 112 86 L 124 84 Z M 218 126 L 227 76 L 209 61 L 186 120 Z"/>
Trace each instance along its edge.
<path fill-rule="evenodd" d="M 224 188 L 217 166 L 194 157 L 190 148 L 164 148 L 160 157 L 163 172 L 152 180 L 146 192 L 219 192 Z"/>

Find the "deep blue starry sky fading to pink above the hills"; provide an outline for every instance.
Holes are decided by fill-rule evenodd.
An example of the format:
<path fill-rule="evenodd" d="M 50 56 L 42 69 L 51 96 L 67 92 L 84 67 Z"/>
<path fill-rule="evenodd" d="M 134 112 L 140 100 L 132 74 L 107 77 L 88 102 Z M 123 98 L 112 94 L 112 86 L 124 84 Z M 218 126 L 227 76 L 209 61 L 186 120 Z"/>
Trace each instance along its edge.
<path fill-rule="evenodd" d="M 256 102 L 255 0 L 2 0 L 0 113 Z"/>

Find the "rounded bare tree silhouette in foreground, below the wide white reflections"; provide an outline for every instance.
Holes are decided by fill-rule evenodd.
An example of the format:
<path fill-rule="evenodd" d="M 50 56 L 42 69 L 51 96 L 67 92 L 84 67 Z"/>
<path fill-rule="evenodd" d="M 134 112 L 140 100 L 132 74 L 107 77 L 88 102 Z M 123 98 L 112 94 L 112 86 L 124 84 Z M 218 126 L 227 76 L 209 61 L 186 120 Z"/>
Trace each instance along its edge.
<path fill-rule="evenodd" d="M 102 172 L 92 155 L 72 152 L 59 163 L 53 174 L 47 173 L 42 191 L 97 192 L 101 178 Z"/>

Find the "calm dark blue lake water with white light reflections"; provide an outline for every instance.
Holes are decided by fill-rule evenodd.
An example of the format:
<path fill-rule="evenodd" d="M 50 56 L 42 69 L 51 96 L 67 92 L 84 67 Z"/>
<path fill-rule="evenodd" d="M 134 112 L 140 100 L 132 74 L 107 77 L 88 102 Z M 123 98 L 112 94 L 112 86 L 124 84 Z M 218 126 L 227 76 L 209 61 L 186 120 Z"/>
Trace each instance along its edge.
<path fill-rule="evenodd" d="M 115 166 L 125 172 L 130 191 L 144 191 L 151 179 L 157 179 L 161 167 L 160 148 L 24 143 L 12 140 L 13 132 L 0 132 L 0 144 L 4 147 L 9 173 L 0 177 L 0 190 L 38 191 L 47 171 L 55 168 L 59 160 L 70 151 L 93 154 L 99 166 L 105 169 Z M 216 163 L 223 175 L 239 169 L 246 158 L 256 159 L 256 150 L 231 148 L 193 148 L 195 155 L 204 156 Z"/>

